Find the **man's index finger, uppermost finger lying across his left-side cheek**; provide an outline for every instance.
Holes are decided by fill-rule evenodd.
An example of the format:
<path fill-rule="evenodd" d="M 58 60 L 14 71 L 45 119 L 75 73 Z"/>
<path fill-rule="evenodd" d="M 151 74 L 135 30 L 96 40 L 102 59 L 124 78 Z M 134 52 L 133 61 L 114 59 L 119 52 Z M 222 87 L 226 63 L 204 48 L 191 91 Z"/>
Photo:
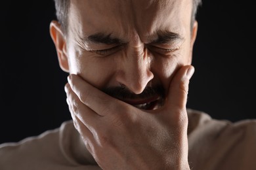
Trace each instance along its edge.
<path fill-rule="evenodd" d="M 119 110 L 121 101 L 110 97 L 104 92 L 91 86 L 77 75 L 68 76 L 70 87 L 83 104 L 94 110 L 100 116 L 106 116 L 111 110 Z"/>

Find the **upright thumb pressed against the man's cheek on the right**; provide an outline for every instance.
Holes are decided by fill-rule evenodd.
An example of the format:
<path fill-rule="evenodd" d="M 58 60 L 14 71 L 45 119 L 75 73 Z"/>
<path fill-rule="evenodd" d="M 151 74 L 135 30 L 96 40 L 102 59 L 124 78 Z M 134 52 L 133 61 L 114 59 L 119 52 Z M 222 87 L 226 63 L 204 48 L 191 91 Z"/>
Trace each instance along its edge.
<path fill-rule="evenodd" d="M 170 109 L 186 109 L 189 80 L 194 74 L 192 65 L 182 66 L 174 75 L 167 95 L 167 107 Z"/>

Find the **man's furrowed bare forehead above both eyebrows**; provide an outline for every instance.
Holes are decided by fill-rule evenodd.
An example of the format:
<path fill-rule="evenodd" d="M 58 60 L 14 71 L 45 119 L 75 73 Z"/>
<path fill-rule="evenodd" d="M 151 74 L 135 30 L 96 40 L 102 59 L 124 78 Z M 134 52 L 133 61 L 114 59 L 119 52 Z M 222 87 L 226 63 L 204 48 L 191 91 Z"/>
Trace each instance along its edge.
<path fill-rule="evenodd" d="M 142 37 L 159 29 L 190 27 L 192 0 L 72 0 L 69 27 L 80 35 L 96 32 Z"/>

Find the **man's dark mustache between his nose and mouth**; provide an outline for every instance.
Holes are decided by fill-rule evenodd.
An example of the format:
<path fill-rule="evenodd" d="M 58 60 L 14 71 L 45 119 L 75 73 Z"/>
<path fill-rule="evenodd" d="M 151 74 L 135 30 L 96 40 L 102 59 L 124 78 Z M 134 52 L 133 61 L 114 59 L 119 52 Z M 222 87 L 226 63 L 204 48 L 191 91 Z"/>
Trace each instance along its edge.
<path fill-rule="evenodd" d="M 135 94 L 125 87 L 104 88 L 102 92 L 122 101 L 127 99 L 146 99 L 156 95 L 159 95 L 161 98 L 165 97 L 165 90 L 161 85 L 146 86 L 143 92 L 139 94 Z"/>

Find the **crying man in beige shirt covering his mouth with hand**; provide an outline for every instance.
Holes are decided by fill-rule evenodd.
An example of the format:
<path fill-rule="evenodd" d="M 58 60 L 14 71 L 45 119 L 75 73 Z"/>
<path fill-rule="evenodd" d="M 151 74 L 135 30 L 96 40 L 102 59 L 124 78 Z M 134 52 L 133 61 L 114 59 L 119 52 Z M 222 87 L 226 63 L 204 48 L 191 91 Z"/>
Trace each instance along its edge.
<path fill-rule="evenodd" d="M 3 144 L 1 168 L 255 169 L 255 121 L 186 109 L 200 1 L 55 3 L 73 121 Z"/>

